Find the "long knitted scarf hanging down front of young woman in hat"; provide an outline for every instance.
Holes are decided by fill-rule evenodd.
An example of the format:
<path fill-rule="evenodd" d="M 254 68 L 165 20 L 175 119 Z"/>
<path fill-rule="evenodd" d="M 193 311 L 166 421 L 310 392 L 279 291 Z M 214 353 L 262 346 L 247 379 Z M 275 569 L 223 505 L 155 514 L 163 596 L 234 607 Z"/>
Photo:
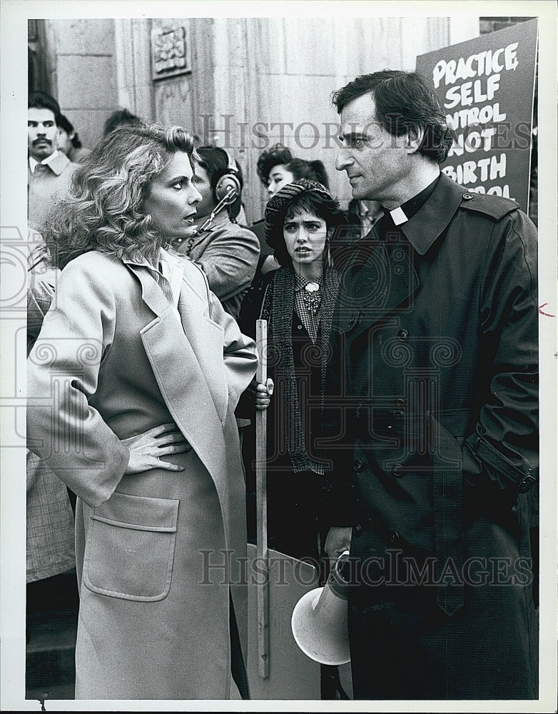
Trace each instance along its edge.
<path fill-rule="evenodd" d="M 326 268 L 320 301 L 321 318 L 321 373 L 320 401 L 323 411 L 325 375 L 328 364 L 328 343 L 333 308 L 339 289 L 339 276 L 334 268 Z M 293 311 L 295 301 L 295 273 L 288 266 L 278 268 L 273 281 L 268 285 L 263 296 L 260 319 L 268 321 L 268 339 L 273 346 L 273 355 L 278 363 L 275 378 L 281 381 L 285 393 L 285 438 L 287 451 L 293 471 L 314 471 L 323 473 L 323 466 L 308 456 L 306 450 L 300 403 L 298 400 L 297 381 L 295 378 L 295 358 L 293 354 Z"/>

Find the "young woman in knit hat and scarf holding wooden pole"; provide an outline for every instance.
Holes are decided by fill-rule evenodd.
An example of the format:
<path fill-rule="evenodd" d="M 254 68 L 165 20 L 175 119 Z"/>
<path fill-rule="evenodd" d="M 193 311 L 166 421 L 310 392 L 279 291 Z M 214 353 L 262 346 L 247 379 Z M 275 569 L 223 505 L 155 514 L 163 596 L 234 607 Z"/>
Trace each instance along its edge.
<path fill-rule="evenodd" d="M 338 273 L 330 242 L 343 232 L 337 201 L 303 178 L 270 198 L 265 238 L 280 268 L 255 284 L 243 301 L 240 328 L 255 335 L 268 321 L 268 373 L 274 396 L 267 418 L 267 524 L 270 548 L 313 563 L 320 583 L 328 575 L 320 492 L 323 465 L 317 440 L 325 406 L 323 387 Z M 255 435 L 243 442 L 248 481 L 248 533 L 255 540 Z M 347 698 L 337 668 L 322 669 L 322 698 Z"/>

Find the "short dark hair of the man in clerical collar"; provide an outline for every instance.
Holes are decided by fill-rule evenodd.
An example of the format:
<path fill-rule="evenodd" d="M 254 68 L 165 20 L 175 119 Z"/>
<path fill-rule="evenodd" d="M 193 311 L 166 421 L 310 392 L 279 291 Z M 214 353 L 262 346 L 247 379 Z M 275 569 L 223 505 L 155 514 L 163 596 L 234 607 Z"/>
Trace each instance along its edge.
<path fill-rule="evenodd" d="M 420 154 L 442 164 L 452 146 L 452 134 L 435 92 L 416 72 L 385 69 L 362 74 L 342 89 L 333 92 L 338 114 L 354 99 L 371 94 L 376 119 L 392 136 L 417 135 L 424 130 Z"/>

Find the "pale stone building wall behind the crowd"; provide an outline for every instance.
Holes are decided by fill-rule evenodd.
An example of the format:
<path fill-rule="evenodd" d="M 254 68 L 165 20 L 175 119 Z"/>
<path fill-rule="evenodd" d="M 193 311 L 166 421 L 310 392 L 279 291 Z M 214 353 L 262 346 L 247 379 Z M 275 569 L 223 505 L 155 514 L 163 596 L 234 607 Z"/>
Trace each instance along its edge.
<path fill-rule="evenodd" d="M 255 170 L 263 149 L 283 141 L 295 156 L 321 159 L 331 190 L 348 203 L 350 187 L 335 171 L 332 91 L 358 74 L 415 69 L 417 55 L 478 36 L 479 19 L 77 19 L 46 20 L 45 28 L 51 90 L 85 146 L 122 107 L 186 126 L 235 155 L 248 219 L 257 220 L 266 201 Z M 173 66 L 183 37 L 187 71 Z"/>

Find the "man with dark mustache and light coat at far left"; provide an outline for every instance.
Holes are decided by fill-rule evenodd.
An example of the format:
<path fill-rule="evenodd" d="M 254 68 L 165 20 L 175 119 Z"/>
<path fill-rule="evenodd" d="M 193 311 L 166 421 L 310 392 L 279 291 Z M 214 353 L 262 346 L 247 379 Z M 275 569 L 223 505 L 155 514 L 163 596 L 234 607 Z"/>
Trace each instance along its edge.
<path fill-rule="evenodd" d="M 28 221 L 41 233 L 46 214 L 69 190 L 77 164 L 56 149 L 60 106 L 54 97 L 37 91 L 27 103 Z"/>

